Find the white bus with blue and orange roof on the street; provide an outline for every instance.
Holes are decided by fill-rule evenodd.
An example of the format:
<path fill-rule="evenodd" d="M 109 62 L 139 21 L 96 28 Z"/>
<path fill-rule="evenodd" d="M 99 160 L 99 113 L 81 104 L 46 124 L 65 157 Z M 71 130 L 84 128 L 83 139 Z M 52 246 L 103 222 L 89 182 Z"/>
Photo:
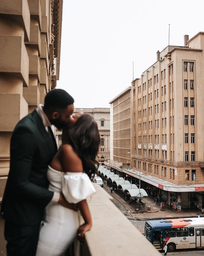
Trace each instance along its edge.
<path fill-rule="evenodd" d="M 145 237 L 158 249 L 168 251 L 204 247 L 204 218 L 146 221 Z"/>

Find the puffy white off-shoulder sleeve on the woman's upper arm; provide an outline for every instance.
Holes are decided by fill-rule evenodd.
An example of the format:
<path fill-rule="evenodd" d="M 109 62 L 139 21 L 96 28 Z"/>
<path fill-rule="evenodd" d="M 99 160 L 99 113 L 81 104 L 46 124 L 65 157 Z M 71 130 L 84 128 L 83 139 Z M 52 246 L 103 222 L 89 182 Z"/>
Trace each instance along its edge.
<path fill-rule="evenodd" d="M 69 203 L 77 204 L 95 192 L 86 173 L 68 173 L 62 177 L 62 193 Z"/>

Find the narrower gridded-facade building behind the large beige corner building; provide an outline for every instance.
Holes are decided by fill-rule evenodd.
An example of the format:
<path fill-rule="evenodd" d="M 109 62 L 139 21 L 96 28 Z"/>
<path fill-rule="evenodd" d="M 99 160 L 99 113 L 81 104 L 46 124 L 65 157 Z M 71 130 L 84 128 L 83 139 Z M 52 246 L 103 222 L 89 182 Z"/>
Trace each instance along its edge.
<path fill-rule="evenodd" d="M 131 87 L 117 95 L 111 104 L 111 160 L 130 167 Z"/>

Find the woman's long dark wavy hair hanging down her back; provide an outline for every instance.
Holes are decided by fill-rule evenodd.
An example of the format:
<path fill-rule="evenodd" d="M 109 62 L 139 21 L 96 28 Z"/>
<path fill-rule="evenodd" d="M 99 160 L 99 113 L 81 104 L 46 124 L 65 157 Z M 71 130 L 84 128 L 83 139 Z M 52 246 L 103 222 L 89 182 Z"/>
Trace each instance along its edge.
<path fill-rule="evenodd" d="M 69 131 L 68 143 L 80 157 L 83 170 L 88 176 L 93 177 L 98 168 L 96 156 L 99 150 L 100 136 L 98 126 L 93 117 L 83 114 L 78 118 L 73 128 Z"/>

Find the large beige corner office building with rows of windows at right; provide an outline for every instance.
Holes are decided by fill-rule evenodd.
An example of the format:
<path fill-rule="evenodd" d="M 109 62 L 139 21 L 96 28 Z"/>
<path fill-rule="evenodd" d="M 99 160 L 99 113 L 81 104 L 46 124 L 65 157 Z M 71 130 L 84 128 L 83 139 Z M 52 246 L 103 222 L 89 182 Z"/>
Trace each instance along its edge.
<path fill-rule="evenodd" d="M 178 210 L 204 208 L 204 32 L 184 38 L 132 83 L 133 169 Z"/>

